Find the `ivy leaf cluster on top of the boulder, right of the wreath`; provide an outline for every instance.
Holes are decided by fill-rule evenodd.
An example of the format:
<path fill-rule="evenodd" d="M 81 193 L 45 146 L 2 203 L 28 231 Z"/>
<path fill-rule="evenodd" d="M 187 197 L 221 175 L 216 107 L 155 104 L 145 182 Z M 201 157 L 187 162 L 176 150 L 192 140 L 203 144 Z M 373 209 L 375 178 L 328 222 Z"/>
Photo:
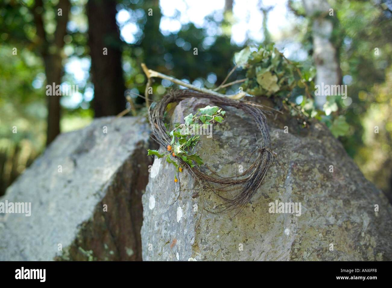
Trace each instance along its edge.
<path fill-rule="evenodd" d="M 273 97 L 274 100 L 287 103 L 290 101 L 289 96 L 294 88 L 302 89 L 306 87 L 305 95 L 307 93 L 307 97 L 303 97 L 299 105 L 289 105 L 290 114 L 300 118 L 303 116 L 317 118 L 325 122 L 335 137 L 344 136 L 348 133 L 349 125 L 344 116 L 338 115 L 337 118 L 332 120 L 331 113 L 337 112 L 339 109 L 336 96 L 327 97 L 323 111 L 317 109 L 314 105 L 312 100 L 314 99 L 314 88 L 309 88 L 315 87 L 313 79 L 316 76 L 316 69 L 313 66 L 299 69 L 299 65 L 287 60 L 274 47 L 273 43 L 265 47 L 260 45 L 256 51 L 251 51 L 251 47 L 253 46 L 245 47 L 234 54 L 234 62 L 239 67 L 246 69 L 247 81 L 244 83 L 244 91 L 255 96 Z M 295 76 L 299 77 L 298 81 Z"/>

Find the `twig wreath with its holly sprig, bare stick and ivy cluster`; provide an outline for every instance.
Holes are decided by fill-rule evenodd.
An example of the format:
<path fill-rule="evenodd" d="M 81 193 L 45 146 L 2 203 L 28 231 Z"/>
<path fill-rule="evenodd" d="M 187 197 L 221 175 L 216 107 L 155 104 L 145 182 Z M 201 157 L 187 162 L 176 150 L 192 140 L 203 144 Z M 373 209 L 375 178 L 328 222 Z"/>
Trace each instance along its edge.
<path fill-rule="evenodd" d="M 165 153 L 159 153 L 158 150 L 149 150 L 148 155 L 156 155 L 158 158 L 166 157 L 166 161 L 172 163 L 174 167 L 176 167 L 176 172 L 182 172 L 182 169 L 185 168 L 200 185 L 200 190 L 203 194 L 203 209 L 201 211 L 200 219 L 198 225 L 196 225 L 195 231 L 200 224 L 203 210 L 205 210 L 204 190 L 203 185 L 201 184 L 202 179 L 207 181 L 207 186 L 209 186 L 208 182 L 220 184 L 220 187 L 218 188 L 209 187 L 224 201 L 223 204 L 218 205 L 218 208 L 221 208 L 221 210 L 217 213 L 229 212 L 231 210 L 240 208 L 238 209 L 239 213 L 241 209 L 244 208 L 247 203 L 249 203 L 250 199 L 256 193 L 256 190 L 260 187 L 268 168 L 272 164 L 274 156 L 276 156 L 276 153 L 274 153 L 270 148 L 271 143 L 269 127 L 265 117 L 265 113 L 267 112 L 265 109 L 275 109 L 242 100 L 246 95 L 250 94 L 254 96 L 266 96 L 268 98 L 272 98 L 274 103 L 279 103 L 279 106 L 283 107 L 285 110 L 288 110 L 291 116 L 301 120 L 303 127 L 308 127 L 307 122 L 310 118 L 317 118 L 318 120 L 321 120 L 321 116 L 325 115 L 322 110 L 319 110 L 314 106 L 312 93 L 309 89 L 309 87 L 314 86 L 313 79 L 316 74 L 315 69 L 309 66 L 309 69 L 303 68 L 301 72 L 298 63 L 293 63 L 288 60 L 283 55 L 283 53 L 276 49 L 274 43 L 270 43 L 265 46 L 247 46 L 238 53 L 234 54 L 234 62 L 236 65 L 229 72 L 225 80 L 223 80 L 223 82 L 218 87 L 212 90 L 203 87 L 197 87 L 158 71 L 148 69 L 146 65 L 142 63 L 142 69 L 147 76 L 145 97 L 131 92 L 131 94 L 135 94 L 136 96 L 140 96 L 145 99 L 145 105 L 148 108 L 149 122 L 152 127 L 152 137 L 155 138 L 155 141 L 158 144 L 163 147 L 167 147 L 167 151 L 165 151 Z M 302 65 L 301 67 L 304 66 Z M 237 68 L 245 69 L 246 78 L 226 83 L 230 75 Z M 155 77 L 169 80 L 180 86 L 187 87 L 188 89 L 171 91 L 166 96 L 164 96 L 162 100 L 154 102 L 150 105 L 151 102 L 148 96 L 152 91 L 152 78 Z M 225 89 L 225 87 L 229 87 L 237 83 L 243 83 L 240 87 L 240 92 L 237 94 L 225 95 L 218 92 L 222 89 Z M 305 87 L 304 97 L 300 104 L 295 104 L 289 101 L 289 97 L 292 95 L 294 87 L 297 87 L 298 89 Z M 203 109 L 199 109 L 199 112 L 201 112 L 200 116 L 196 116 L 196 114 L 189 114 L 188 116 L 184 117 L 184 121 L 187 122 L 186 124 L 189 124 L 190 122 L 193 123 L 193 120 L 197 120 L 201 121 L 203 125 L 205 125 L 205 123 L 207 123 L 206 118 L 208 121 L 212 121 L 212 123 L 214 123 L 215 120 L 217 122 L 221 122 L 221 120 L 223 120 L 223 117 L 221 116 L 224 115 L 225 111 L 219 107 L 225 106 L 242 110 L 246 114 L 249 114 L 249 116 L 251 116 L 256 122 L 256 125 L 260 130 L 261 138 L 256 142 L 258 145 L 257 149 L 249 154 L 255 156 L 256 160 L 246 171 L 240 175 L 223 178 L 211 170 L 208 165 L 206 165 L 207 168 L 211 170 L 212 175 L 204 174 L 196 167 L 196 164 L 193 164 L 192 162 L 194 161 L 200 165 L 203 164 L 202 159 L 196 153 L 191 154 L 191 150 L 189 150 L 189 148 L 193 148 L 197 144 L 200 136 L 196 134 L 196 136 L 189 138 L 190 133 L 186 133 L 185 135 L 179 132 L 179 127 L 184 124 L 178 124 L 179 126 L 176 126 L 171 132 L 167 130 L 167 125 L 165 125 L 163 122 L 167 106 L 170 103 L 180 102 L 181 100 L 192 97 L 209 99 L 216 106 L 207 106 Z M 133 103 L 132 98 L 127 97 L 127 101 L 129 101 L 132 108 L 132 113 L 135 115 L 136 106 Z M 207 113 L 205 111 L 209 112 Z M 275 111 L 283 114 L 283 112 L 280 110 Z M 118 116 L 120 117 L 125 115 L 127 112 L 129 112 L 129 109 L 124 110 Z M 330 128 L 332 132 L 334 125 L 335 124 L 332 124 Z M 341 130 L 341 125 L 336 126 L 338 127 L 338 130 Z M 170 136 L 172 136 L 172 138 Z M 178 141 L 176 141 L 176 139 Z M 171 145 L 173 145 L 173 147 Z M 188 151 L 185 151 L 183 147 L 187 147 Z M 166 154 L 168 152 L 169 154 Z M 170 158 L 171 155 L 175 157 L 175 161 Z M 174 181 L 177 182 L 176 177 L 174 178 Z M 180 181 L 178 180 L 178 182 Z M 179 184 L 181 192 L 181 183 Z M 214 187 L 216 187 L 216 185 L 214 185 Z M 237 189 L 241 190 L 232 199 L 220 194 L 221 192 L 224 193 Z M 180 194 L 178 197 L 180 197 Z"/>

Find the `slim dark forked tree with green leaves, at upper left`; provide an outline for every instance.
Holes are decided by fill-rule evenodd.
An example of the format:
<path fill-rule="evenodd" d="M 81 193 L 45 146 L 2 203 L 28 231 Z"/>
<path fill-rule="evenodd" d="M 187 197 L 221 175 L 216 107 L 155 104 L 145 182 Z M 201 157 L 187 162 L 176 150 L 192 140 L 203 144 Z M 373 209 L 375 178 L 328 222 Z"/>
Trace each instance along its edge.
<path fill-rule="evenodd" d="M 4 20 L 0 22 L 0 27 L 2 31 L 6 31 L 13 36 L 9 43 L 19 47 L 23 45 L 42 57 L 47 84 L 49 85 L 53 83 L 60 85 L 61 83 L 62 58 L 64 55 L 62 51 L 64 36 L 67 34 L 70 7 L 69 0 L 59 0 L 56 7 L 51 7 L 50 3 L 44 4 L 42 0 L 30 2 L 28 5 L 24 2 L 16 3 L 12 1 L 2 6 Z M 19 13 L 22 8 L 33 16 L 33 22 L 26 20 L 28 18 Z M 53 15 L 55 15 L 55 19 L 51 23 L 56 24 L 54 33 L 47 32 L 47 23 L 44 23 L 43 15 L 49 11 L 53 11 Z M 31 31 L 34 31 L 34 33 L 31 33 Z M 56 95 L 47 96 L 47 108 L 46 144 L 49 145 L 60 134 L 60 97 Z"/>

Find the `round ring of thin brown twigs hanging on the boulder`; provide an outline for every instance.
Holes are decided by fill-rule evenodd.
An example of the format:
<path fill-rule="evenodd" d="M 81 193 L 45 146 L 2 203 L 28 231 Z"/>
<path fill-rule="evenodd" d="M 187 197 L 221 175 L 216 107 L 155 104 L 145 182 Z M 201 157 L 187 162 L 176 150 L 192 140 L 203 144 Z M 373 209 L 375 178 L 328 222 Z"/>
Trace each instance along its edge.
<path fill-rule="evenodd" d="M 169 94 L 164 96 L 163 99 L 155 105 L 155 107 L 152 108 L 150 106 L 149 108 L 149 121 L 152 127 L 152 136 L 158 144 L 162 145 L 163 147 L 166 147 L 171 142 L 171 138 L 169 137 L 168 133 L 169 131 L 167 130 L 165 123 L 163 122 L 163 116 L 165 114 L 167 105 L 169 103 L 180 102 L 181 100 L 192 97 L 207 98 L 211 100 L 214 105 L 220 107 L 223 105 L 240 109 L 243 112 L 252 116 L 252 118 L 256 122 L 258 129 L 260 130 L 261 139 L 260 141 L 258 141 L 260 144 L 259 147 L 253 152 L 253 154 L 257 153 L 256 160 L 254 161 L 254 163 L 252 163 L 252 165 L 250 165 L 250 167 L 246 171 L 244 171 L 240 175 L 225 178 L 207 175 L 201 172 L 196 167 L 192 168 L 189 163 L 183 161 L 181 158 L 177 158 L 178 165 L 181 165 L 187 169 L 187 171 L 192 175 L 192 177 L 196 181 L 198 181 L 202 191 L 203 186 L 201 185 L 201 179 L 221 184 L 220 187 L 211 189 L 215 194 L 217 194 L 221 199 L 225 201 L 225 203 L 218 206 L 218 208 L 223 208 L 223 210 L 220 212 L 230 211 L 236 208 L 243 208 L 247 203 L 249 203 L 249 200 L 256 193 L 256 190 L 260 187 L 269 166 L 272 164 L 273 152 L 270 148 L 271 141 L 269 128 L 267 125 L 267 119 L 263 111 L 259 107 L 249 102 L 233 100 L 230 98 L 224 98 L 217 95 L 197 92 L 190 89 L 171 91 L 169 92 Z M 214 171 L 212 172 L 214 175 L 218 176 L 218 174 L 216 174 Z M 245 175 L 247 176 L 240 179 L 235 179 Z M 241 192 L 239 192 L 233 199 L 223 197 L 219 193 L 228 192 L 239 188 L 241 188 Z"/>

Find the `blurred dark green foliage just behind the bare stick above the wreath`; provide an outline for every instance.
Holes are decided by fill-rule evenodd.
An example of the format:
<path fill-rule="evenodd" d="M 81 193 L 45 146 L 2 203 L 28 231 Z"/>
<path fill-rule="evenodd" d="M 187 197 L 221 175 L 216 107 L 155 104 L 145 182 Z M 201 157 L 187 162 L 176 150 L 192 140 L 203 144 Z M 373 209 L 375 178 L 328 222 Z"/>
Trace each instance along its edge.
<path fill-rule="evenodd" d="M 147 15 L 149 8 L 154 11 L 153 17 Z M 132 1 L 128 5 L 120 2 L 118 9 L 131 11 L 135 16 L 132 23 L 135 23 L 139 29 L 134 35 L 135 43 L 125 44 L 123 51 L 123 63 L 130 65 L 129 70 L 124 74 L 125 85 L 130 89 L 137 89 L 139 94 L 144 94 L 146 83 L 140 63 L 145 63 L 149 69 L 185 82 L 196 81 L 197 86 L 211 88 L 215 83 L 221 83 L 225 79 L 232 68 L 229 59 L 241 49 L 240 46 L 230 42 L 229 35 L 210 36 L 207 33 L 208 27 L 219 27 L 222 24 L 214 20 L 213 16 L 205 18 L 207 24 L 203 25 L 203 28 L 188 23 L 184 24 L 178 33 L 162 33 L 159 1 Z M 194 48 L 198 49 L 197 55 L 194 54 Z M 212 77 L 208 77 L 209 75 Z M 236 75 L 235 72 L 233 76 Z M 177 85 L 156 78 L 152 83 L 154 93 L 151 98 L 158 100 L 167 93 L 168 89 L 174 87 Z M 137 104 L 143 102 L 140 97 L 136 99 Z"/>

